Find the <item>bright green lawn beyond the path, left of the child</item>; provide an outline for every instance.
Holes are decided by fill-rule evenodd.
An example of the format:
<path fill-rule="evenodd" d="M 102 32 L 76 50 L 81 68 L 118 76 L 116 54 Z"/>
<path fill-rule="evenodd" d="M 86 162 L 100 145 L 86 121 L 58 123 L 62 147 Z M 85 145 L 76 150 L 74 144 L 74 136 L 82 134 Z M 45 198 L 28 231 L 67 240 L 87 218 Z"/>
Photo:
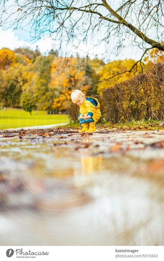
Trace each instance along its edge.
<path fill-rule="evenodd" d="M 49 125 L 69 122 L 67 114 L 46 114 L 45 111 L 25 112 L 23 109 L 10 109 L 0 111 L 0 129 L 22 128 L 28 126 Z"/>

